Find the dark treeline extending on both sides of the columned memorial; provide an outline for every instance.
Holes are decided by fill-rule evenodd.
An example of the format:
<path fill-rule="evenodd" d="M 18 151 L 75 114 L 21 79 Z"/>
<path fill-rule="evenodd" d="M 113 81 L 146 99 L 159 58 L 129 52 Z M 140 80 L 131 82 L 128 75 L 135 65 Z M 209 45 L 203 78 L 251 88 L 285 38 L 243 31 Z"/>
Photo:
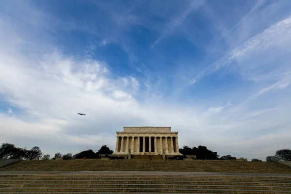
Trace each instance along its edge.
<path fill-rule="evenodd" d="M 217 152 L 213 152 L 207 149 L 206 146 L 198 146 L 198 147 L 188 147 L 183 146 L 183 148 L 179 149 L 179 152 L 183 154 L 185 158 L 186 155 L 195 155 L 196 160 L 236 160 L 237 158 L 231 155 L 219 156 Z M 113 154 L 113 150 L 111 150 L 108 146 L 101 146 L 97 152 L 94 152 L 92 149 L 88 149 L 85 151 L 81 151 L 77 154 L 67 153 L 61 154 L 60 152 L 55 153 L 55 155 L 50 158 L 49 154 L 44 155 L 38 146 L 34 146 L 31 149 L 27 149 L 26 147 L 16 147 L 13 144 L 3 143 L 0 146 L 0 159 L 24 159 L 24 160 L 54 160 L 56 158 L 63 158 L 64 160 L 70 159 L 98 159 L 100 155 L 111 155 Z M 109 156 L 112 159 L 124 159 L 123 157 L 113 157 Z M 177 158 L 177 157 L 176 157 Z M 181 158 L 181 159 L 182 159 Z M 244 161 L 248 161 L 246 158 L 241 157 Z M 252 162 L 261 162 L 259 159 L 252 159 Z M 267 162 L 275 162 L 275 161 L 291 161 L 291 149 L 281 149 L 275 152 L 274 156 L 267 156 Z"/>

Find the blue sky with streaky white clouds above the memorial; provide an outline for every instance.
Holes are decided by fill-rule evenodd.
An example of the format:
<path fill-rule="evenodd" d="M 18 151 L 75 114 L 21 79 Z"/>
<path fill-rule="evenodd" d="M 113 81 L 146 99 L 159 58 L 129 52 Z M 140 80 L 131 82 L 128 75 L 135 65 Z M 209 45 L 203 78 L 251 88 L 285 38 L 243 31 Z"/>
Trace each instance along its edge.
<path fill-rule="evenodd" d="M 1 5 L 0 142 L 77 153 L 171 126 L 221 156 L 291 147 L 289 0 Z"/>

